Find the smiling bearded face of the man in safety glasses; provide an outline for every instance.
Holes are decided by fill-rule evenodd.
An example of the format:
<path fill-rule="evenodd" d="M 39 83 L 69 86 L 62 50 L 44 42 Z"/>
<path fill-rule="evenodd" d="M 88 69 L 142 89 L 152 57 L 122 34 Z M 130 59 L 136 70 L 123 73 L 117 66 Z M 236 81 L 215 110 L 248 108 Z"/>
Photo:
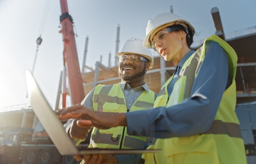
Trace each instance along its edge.
<path fill-rule="evenodd" d="M 119 77 L 129 83 L 144 82 L 146 71 L 150 63 L 146 61 L 131 61 L 130 56 L 138 56 L 137 54 L 125 54 L 128 58 L 124 62 L 119 63 Z"/>

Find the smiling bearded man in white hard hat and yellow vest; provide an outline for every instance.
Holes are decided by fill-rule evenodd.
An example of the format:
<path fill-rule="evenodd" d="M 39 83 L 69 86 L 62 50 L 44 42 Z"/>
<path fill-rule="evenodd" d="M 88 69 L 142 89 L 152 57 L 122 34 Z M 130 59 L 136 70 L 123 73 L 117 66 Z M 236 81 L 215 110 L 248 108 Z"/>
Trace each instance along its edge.
<path fill-rule="evenodd" d="M 82 105 L 94 111 L 129 112 L 153 108 L 156 94 L 148 89 L 144 82 L 146 71 L 153 67 L 154 59 L 151 51 L 143 47 L 143 40 L 131 38 L 120 51 L 119 77 L 121 83 L 114 85 L 97 85 L 85 97 Z M 77 125 L 77 119 L 68 122 L 65 127 L 76 142 L 85 139 L 89 128 Z M 115 127 L 107 130 L 93 128 L 89 148 L 103 149 L 139 149 L 149 142 L 149 138 L 130 136 L 126 127 Z M 140 155 L 107 156 L 105 161 L 111 163 L 135 163 Z M 76 156 L 80 160 L 79 156 Z M 85 161 L 87 162 L 87 161 Z"/>

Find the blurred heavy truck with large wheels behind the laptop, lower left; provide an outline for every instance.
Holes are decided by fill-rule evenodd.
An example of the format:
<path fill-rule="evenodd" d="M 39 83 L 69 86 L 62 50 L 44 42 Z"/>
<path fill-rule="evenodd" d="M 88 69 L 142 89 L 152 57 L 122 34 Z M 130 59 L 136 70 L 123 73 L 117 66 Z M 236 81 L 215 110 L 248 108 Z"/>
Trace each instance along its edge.
<path fill-rule="evenodd" d="M 1 164 L 76 163 L 73 155 L 60 155 L 40 121 L 35 129 L 2 126 L 0 139 Z"/>

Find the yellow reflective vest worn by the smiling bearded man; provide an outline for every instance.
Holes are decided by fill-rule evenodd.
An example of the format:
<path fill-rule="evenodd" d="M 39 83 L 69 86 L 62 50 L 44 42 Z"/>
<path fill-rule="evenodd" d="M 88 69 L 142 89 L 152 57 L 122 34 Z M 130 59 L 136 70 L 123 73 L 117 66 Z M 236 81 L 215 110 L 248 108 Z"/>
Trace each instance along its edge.
<path fill-rule="evenodd" d="M 103 87 L 104 86 L 104 87 Z M 123 90 L 120 84 L 97 85 L 93 92 L 93 110 L 103 112 L 127 112 Z M 130 111 L 153 108 L 155 93 L 144 91 L 132 104 Z M 146 137 L 130 136 L 127 128 L 118 126 L 110 129 L 93 128 L 89 148 L 139 149 L 147 142 Z"/>

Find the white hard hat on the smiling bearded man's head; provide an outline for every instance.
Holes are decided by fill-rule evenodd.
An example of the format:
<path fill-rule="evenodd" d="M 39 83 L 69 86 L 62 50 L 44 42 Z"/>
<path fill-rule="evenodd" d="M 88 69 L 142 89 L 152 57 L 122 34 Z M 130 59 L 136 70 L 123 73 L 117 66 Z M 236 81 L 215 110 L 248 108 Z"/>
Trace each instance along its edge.
<path fill-rule="evenodd" d="M 130 38 L 126 40 L 119 50 L 116 53 L 116 56 L 120 57 L 123 54 L 138 54 L 145 58 L 147 58 L 150 62 L 149 68 L 153 67 L 154 58 L 151 53 L 151 50 L 148 48 L 143 47 L 143 40 L 139 38 Z"/>

